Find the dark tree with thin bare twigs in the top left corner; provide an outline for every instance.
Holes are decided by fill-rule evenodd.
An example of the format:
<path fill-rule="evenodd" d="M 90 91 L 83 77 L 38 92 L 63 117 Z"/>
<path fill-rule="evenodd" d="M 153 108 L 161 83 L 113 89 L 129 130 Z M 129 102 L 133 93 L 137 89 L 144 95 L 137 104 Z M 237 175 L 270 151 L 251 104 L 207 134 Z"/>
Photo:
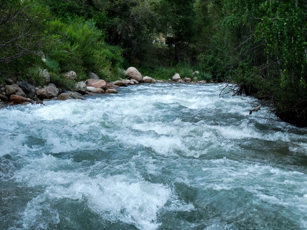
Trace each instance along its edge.
<path fill-rule="evenodd" d="M 30 54 L 47 44 L 42 33 L 44 19 L 32 7 L 27 0 L 0 3 L 0 78 L 24 71 L 24 65 L 34 61 Z"/>

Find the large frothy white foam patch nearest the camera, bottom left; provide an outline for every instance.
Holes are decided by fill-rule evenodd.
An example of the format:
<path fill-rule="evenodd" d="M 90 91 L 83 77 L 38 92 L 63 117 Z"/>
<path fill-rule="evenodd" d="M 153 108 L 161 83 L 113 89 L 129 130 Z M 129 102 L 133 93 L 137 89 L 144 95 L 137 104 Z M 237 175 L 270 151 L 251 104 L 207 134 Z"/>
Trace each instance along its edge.
<path fill-rule="evenodd" d="M 87 201 L 88 207 L 99 214 L 102 219 L 111 222 L 121 221 L 133 224 L 141 230 L 157 229 L 157 213 L 165 203 L 172 199 L 172 190 L 162 184 L 153 184 L 140 178 L 138 173 L 115 176 L 87 176 L 83 170 L 72 170 L 72 159 L 57 159 L 51 155 L 43 155 L 40 159 L 32 159 L 31 163 L 17 171 L 16 182 L 25 186 L 48 186 L 44 193 L 28 202 L 23 212 L 24 229 L 32 229 L 31 224 L 41 221 L 42 213 L 49 210 L 55 200 L 72 199 Z M 69 170 L 71 169 L 71 170 Z M 66 201 L 65 201 L 66 202 Z M 49 212 L 49 211 L 48 211 Z M 47 217 L 57 219 L 56 210 L 50 209 Z M 45 225 L 42 226 L 46 229 Z"/>

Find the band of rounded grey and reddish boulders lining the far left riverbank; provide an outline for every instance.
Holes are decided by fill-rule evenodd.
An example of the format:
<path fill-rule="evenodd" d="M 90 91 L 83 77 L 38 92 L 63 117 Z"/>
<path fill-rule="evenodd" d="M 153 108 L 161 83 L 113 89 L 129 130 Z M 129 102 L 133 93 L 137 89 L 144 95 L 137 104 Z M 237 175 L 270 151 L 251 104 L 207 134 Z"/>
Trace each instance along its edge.
<path fill-rule="evenodd" d="M 172 79 L 156 80 L 151 77 L 142 77 L 142 74 L 134 67 L 129 67 L 125 71 L 126 79 L 115 82 L 109 82 L 99 79 L 94 73 L 89 73 L 90 79 L 85 82 L 76 82 L 73 91 L 58 88 L 50 83 L 50 76 L 47 70 L 41 71 L 42 76 L 46 79 L 45 86 L 35 86 L 33 81 L 18 81 L 17 79 L 6 79 L 5 83 L 0 85 L 0 108 L 7 105 L 27 105 L 27 104 L 43 104 L 48 100 L 69 100 L 81 99 L 85 100 L 85 95 L 93 94 L 117 94 L 119 87 L 127 87 L 128 85 L 137 85 L 139 83 L 206 83 L 206 81 L 197 81 L 198 71 L 195 71 L 191 78 L 181 79 L 179 74 L 175 74 Z M 64 77 L 76 79 L 76 73 L 69 71 L 63 75 Z"/>

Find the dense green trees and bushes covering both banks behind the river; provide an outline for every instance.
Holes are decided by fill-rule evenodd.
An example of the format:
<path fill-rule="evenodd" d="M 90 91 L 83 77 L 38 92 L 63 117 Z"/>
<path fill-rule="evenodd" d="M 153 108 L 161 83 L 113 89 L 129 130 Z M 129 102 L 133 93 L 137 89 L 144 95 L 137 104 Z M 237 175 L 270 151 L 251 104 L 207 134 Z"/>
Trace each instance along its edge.
<path fill-rule="evenodd" d="M 0 80 L 40 84 L 39 69 L 62 85 L 69 70 L 110 81 L 129 66 L 160 79 L 198 70 L 307 126 L 306 12 L 299 0 L 1 0 Z"/>

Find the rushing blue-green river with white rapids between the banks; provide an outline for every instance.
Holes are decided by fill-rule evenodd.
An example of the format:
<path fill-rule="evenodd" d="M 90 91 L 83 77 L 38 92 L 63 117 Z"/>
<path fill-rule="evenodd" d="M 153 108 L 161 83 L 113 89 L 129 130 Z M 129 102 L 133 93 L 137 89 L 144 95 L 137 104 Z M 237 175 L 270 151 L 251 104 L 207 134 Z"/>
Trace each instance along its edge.
<path fill-rule="evenodd" d="M 0 229 L 307 229 L 307 129 L 219 86 L 0 110 Z"/>

